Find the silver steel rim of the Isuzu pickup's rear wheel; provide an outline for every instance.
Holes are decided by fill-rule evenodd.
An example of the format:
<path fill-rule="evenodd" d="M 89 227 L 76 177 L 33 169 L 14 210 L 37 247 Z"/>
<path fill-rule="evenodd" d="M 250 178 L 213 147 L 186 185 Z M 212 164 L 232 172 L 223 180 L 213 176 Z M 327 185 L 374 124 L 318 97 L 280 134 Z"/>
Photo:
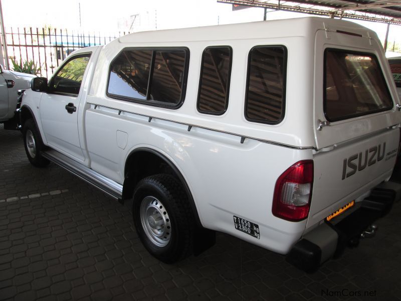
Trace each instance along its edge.
<path fill-rule="evenodd" d="M 164 205 L 148 196 L 142 200 L 139 211 L 143 230 L 149 240 L 158 247 L 166 246 L 171 237 L 171 224 Z"/>

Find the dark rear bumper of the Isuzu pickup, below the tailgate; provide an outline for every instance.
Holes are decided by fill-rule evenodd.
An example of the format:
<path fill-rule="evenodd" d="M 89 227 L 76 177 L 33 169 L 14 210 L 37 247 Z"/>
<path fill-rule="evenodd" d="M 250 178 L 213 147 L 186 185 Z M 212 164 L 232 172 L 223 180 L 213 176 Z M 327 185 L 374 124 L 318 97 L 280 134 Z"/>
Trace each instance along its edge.
<path fill-rule="evenodd" d="M 307 272 L 315 271 L 326 260 L 339 257 L 346 246 L 356 246 L 362 232 L 386 215 L 400 197 L 401 184 L 386 182 L 378 185 L 352 213 L 325 221 L 303 236 L 287 254 L 286 260 Z"/>

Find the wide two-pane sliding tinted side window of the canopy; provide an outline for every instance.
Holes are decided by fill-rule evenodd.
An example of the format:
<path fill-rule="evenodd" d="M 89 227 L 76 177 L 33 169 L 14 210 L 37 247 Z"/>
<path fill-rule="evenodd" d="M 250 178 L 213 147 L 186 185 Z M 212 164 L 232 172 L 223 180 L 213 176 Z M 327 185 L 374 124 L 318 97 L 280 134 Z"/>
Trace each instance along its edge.
<path fill-rule="evenodd" d="M 124 50 L 111 63 L 107 93 L 177 107 L 184 94 L 186 57 L 184 50 Z"/>

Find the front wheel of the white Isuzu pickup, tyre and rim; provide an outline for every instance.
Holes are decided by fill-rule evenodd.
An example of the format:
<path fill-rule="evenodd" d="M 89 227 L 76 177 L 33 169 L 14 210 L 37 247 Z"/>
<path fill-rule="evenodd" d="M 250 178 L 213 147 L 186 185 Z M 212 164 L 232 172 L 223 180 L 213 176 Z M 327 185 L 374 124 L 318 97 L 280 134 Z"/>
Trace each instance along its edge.
<path fill-rule="evenodd" d="M 41 134 L 36 127 L 33 119 L 25 121 L 22 133 L 24 135 L 25 152 L 29 162 L 36 167 L 45 167 L 49 164 L 49 160 L 41 155 L 41 151 L 45 149 Z"/>

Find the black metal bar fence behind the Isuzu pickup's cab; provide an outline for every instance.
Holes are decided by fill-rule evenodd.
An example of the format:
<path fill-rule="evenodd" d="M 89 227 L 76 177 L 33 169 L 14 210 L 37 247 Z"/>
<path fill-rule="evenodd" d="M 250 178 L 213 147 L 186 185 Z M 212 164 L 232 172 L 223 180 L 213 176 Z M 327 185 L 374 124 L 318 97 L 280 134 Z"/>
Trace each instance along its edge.
<path fill-rule="evenodd" d="M 40 67 L 38 76 L 50 77 L 60 63 L 74 50 L 104 45 L 125 32 L 101 34 L 57 30 L 52 28 L 23 28 L 6 30 L 8 59 L 13 69 L 12 58 L 18 64 L 34 62 Z M 128 34 L 128 33 L 127 33 Z"/>

